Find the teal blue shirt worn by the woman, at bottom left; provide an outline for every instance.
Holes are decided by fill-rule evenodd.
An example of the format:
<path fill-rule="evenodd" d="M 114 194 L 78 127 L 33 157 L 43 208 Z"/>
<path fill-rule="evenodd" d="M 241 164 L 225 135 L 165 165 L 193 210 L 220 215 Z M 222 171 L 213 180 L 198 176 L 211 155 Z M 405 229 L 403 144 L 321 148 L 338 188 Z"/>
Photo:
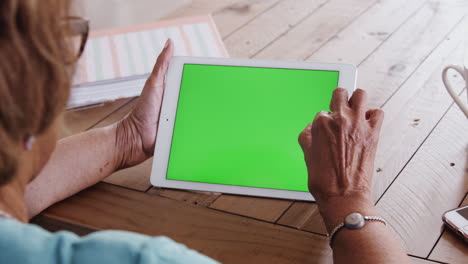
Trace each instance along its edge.
<path fill-rule="evenodd" d="M 0 219 L 0 263 L 15 264 L 212 264 L 216 261 L 167 237 L 100 231 L 79 237 Z"/>

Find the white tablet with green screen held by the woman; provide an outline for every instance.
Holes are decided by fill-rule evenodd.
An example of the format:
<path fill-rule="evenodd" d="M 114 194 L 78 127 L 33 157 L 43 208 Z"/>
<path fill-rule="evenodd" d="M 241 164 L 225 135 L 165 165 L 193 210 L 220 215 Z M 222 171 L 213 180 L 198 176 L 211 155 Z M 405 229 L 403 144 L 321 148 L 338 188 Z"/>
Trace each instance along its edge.
<path fill-rule="evenodd" d="M 355 86 L 352 65 L 175 57 L 151 183 L 313 200 L 298 135 L 336 87 Z"/>

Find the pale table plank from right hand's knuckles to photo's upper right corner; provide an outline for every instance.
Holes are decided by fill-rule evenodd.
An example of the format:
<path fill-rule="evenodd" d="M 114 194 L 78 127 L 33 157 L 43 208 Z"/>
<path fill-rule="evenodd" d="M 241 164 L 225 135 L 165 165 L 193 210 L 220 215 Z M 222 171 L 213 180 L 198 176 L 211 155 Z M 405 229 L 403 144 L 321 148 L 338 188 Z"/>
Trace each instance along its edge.
<path fill-rule="evenodd" d="M 358 87 L 368 91 L 370 107 L 381 107 L 395 93 L 460 22 L 467 9 L 465 0 L 428 1 L 398 35 L 390 37 L 359 65 Z"/>

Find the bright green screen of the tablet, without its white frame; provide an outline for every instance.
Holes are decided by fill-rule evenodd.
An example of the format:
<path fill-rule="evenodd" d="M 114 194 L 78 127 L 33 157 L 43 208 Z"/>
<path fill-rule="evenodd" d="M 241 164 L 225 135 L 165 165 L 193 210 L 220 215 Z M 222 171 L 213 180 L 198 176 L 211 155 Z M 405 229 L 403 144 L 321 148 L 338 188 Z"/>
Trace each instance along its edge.
<path fill-rule="evenodd" d="M 298 135 L 339 72 L 185 64 L 167 179 L 308 191 Z"/>

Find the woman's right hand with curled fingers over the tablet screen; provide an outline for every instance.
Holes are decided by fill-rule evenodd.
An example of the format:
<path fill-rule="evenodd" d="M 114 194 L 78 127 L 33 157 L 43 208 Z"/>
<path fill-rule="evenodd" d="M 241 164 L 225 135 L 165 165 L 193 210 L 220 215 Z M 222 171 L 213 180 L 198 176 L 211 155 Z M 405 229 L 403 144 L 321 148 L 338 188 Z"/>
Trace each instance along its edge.
<path fill-rule="evenodd" d="M 352 213 L 375 214 L 371 182 L 383 121 L 381 109 L 367 109 L 367 94 L 356 90 L 348 101 L 337 88 L 333 113 L 319 112 L 299 136 L 309 174 L 309 190 L 328 231 Z"/>

